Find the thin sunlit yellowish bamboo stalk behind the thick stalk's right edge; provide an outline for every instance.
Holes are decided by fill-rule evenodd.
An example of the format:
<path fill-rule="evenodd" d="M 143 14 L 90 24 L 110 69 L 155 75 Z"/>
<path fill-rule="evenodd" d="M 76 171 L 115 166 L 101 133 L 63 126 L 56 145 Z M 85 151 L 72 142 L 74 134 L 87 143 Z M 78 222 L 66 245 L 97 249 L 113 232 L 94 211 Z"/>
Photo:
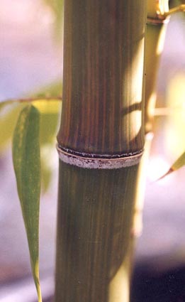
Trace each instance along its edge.
<path fill-rule="evenodd" d="M 145 36 L 145 151 L 138 168 L 138 190 L 135 198 L 133 232 L 142 232 L 142 209 L 145 198 L 147 163 L 152 144 L 153 120 L 157 97 L 157 75 L 162 55 L 169 11 L 168 0 L 147 0 L 147 33 Z M 162 15 L 163 14 L 163 15 Z"/>

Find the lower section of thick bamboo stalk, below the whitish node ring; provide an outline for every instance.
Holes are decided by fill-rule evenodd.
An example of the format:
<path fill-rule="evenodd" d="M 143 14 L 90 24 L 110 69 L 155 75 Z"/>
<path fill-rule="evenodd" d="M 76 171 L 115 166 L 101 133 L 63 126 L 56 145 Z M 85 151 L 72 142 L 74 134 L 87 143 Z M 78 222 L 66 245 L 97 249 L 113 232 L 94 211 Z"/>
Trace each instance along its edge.
<path fill-rule="evenodd" d="M 125 298 L 120 289 L 128 279 L 123 264 L 137 170 L 60 163 L 55 301 L 128 301 L 128 290 Z M 125 190 L 128 182 L 132 191 Z"/>

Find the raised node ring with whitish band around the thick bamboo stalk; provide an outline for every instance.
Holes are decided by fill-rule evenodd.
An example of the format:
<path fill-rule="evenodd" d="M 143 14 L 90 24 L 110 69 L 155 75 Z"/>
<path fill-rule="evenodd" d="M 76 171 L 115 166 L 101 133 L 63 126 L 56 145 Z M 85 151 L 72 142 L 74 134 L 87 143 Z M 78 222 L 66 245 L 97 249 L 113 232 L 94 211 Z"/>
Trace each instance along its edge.
<path fill-rule="evenodd" d="M 58 144 L 57 151 L 61 161 L 72 166 L 89 169 L 118 169 L 135 166 L 140 162 L 143 153 L 142 149 L 134 153 L 118 154 L 114 156 L 108 154 L 88 154 L 65 149 Z"/>

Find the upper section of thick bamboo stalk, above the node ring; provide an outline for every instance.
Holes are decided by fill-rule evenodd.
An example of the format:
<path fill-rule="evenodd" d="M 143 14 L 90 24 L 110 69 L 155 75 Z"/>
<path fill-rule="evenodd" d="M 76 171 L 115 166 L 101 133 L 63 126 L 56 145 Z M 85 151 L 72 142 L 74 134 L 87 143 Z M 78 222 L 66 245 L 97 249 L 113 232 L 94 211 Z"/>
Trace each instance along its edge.
<path fill-rule="evenodd" d="M 125 156 L 143 149 L 141 7 L 141 1 L 66 1 L 57 137 L 63 148 Z"/>

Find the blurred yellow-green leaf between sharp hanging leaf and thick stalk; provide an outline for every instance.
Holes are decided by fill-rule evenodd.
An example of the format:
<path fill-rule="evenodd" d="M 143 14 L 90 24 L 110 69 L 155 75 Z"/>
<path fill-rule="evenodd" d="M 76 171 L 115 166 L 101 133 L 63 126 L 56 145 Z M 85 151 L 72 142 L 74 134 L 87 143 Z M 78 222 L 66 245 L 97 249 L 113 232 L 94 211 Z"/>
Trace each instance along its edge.
<path fill-rule="evenodd" d="M 43 87 L 33 96 L 43 97 L 43 99 L 37 100 L 33 104 L 40 112 L 41 183 L 42 191 L 46 192 L 52 178 L 52 155 L 55 150 L 55 140 L 62 104 L 55 97 L 62 97 L 62 82 L 54 82 L 49 86 Z M 45 97 L 50 97 L 51 99 L 48 100 Z"/>

